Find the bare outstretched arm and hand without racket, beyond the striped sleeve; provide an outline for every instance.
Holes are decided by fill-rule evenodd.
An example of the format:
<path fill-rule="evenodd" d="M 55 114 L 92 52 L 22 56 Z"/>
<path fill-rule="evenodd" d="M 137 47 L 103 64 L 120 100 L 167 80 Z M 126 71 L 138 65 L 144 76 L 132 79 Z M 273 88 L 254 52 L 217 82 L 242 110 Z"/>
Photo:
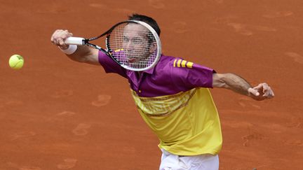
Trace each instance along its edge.
<path fill-rule="evenodd" d="M 213 73 L 213 87 L 233 90 L 258 101 L 274 97 L 274 92 L 267 83 L 260 83 L 253 87 L 246 80 L 234 73 Z"/>

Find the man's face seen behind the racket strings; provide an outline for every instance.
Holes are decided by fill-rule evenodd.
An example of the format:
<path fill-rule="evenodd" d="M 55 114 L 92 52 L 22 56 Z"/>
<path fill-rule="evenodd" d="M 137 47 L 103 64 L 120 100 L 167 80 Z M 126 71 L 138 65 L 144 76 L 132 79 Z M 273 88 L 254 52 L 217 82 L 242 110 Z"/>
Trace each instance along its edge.
<path fill-rule="evenodd" d="M 154 43 L 149 42 L 149 30 L 140 24 L 127 24 L 123 32 L 123 48 L 128 62 L 139 62 L 154 52 Z"/>

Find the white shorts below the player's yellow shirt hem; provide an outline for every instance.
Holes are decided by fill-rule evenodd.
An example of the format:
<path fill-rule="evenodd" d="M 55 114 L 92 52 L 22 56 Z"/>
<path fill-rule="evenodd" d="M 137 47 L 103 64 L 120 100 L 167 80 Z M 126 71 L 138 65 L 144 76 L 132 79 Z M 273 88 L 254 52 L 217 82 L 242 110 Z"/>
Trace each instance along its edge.
<path fill-rule="evenodd" d="M 179 156 L 162 150 L 159 170 L 218 170 L 218 155 Z"/>

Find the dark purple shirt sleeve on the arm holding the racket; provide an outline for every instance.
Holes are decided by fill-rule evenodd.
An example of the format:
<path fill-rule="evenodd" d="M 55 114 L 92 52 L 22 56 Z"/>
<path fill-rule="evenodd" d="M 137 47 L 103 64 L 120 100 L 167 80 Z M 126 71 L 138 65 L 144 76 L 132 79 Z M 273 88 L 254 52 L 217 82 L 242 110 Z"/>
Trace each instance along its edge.
<path fill-rule="evenodd" d="M 118 73 L 123 77 L 126 76 L 126 69 L 117 64 L 113 59 L 111 59 L 107 54 L 99 51 L 98 60 L 106 73 Z"/>

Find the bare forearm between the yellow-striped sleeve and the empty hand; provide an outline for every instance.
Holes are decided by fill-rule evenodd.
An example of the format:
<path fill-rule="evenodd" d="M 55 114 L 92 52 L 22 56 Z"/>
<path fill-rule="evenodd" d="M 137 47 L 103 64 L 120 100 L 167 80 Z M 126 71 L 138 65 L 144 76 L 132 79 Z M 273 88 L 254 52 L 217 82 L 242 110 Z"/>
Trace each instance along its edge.
<path fill-rule="evenodd" d="M 224 73 L 224 76 L 222 76 L 220 79 L 224 83 L 224 88 L 233 90 L 234 92 L 246 96 L 249 95 L 248 89 L 252 86 L 250 83 L 244 80 L 244 78 L 241 78 L 234 73 Z"/>

